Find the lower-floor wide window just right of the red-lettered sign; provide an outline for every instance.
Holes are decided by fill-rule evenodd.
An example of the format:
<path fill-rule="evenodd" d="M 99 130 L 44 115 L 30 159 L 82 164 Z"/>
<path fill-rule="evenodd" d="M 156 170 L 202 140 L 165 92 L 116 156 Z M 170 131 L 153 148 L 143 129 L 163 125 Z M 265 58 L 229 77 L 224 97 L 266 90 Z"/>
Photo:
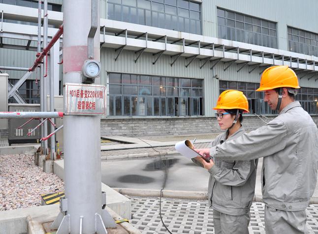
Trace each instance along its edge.
<path fill-rule="evenodd" d="M 110 116 L 203 115 L 203 80 L 109 73 Z"/>

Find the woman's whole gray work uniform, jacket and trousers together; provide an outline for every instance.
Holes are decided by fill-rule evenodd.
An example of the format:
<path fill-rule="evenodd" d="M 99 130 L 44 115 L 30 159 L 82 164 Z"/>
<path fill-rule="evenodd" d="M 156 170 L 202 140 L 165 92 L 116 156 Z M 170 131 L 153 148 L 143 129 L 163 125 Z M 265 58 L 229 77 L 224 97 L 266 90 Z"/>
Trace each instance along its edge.
<path fill-rule="evenodd" d="M 212 146 L 235 139 L 245 132 L 241 127 L 228 139 L 228 131 L 220 134 Z M 192 159 L 202 166 L 199 161 Z M 213 208 L 215 234 L 247 234 L 250 222 L 250 207 L 254 197 L 258 159 L 234 161 L 214 159 L 210 173 L 208 201 Z"/>

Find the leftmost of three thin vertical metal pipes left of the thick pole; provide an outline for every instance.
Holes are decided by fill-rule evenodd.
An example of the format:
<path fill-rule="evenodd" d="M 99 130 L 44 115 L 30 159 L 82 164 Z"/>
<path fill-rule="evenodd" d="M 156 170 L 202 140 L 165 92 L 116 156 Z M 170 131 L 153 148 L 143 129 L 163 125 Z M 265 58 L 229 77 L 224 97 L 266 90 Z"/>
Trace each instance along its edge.
<path fill-rule="evenodd" d="M 42 1 L 38 0 L 38 5 L 37 5 L 37 11 L 38 11 L 38 16 L 37 16 L 37 54 L 39 55 L 41 52 L 41 6 Z M 38 67 L 38 66 L 36 66 Z M 39 80 L 40 80 L 40 110 L 43 111 L 43 65 L 40 65 L 40 68 L 38 68 L 38 74 L 39 74 Z M 43 119 L 41 119 L 43 121 Z M 41 138 L 44 137 L 44 128 L 41 126 Z M 44 152 L 44 142 L 41 141 L 41 148 Z"/>

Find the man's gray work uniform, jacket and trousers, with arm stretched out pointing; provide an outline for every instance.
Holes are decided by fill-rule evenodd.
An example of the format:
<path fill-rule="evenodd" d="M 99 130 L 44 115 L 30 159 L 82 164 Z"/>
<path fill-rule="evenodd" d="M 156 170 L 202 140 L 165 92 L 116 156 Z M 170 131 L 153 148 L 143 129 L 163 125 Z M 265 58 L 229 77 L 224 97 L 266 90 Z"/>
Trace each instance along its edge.
<path fill-rule="evenodd" d="M 210 149 L 223 160 L 264 157 L 261 171 L 267 234 L 307 233 L 304 212 L 317 182 L 318 130 L 299 102 L 267 125 Z"/>

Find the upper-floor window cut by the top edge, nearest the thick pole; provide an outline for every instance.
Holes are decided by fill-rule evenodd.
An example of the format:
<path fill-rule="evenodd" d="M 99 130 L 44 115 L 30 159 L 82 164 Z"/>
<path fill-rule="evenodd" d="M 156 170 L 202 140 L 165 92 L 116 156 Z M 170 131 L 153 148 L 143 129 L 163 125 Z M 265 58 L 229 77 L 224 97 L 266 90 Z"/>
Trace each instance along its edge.
<path fill-rule="evenodd" d="M 202 33 L 200 4 L 189 0 L 108 0 L 107 19 Z"/>

